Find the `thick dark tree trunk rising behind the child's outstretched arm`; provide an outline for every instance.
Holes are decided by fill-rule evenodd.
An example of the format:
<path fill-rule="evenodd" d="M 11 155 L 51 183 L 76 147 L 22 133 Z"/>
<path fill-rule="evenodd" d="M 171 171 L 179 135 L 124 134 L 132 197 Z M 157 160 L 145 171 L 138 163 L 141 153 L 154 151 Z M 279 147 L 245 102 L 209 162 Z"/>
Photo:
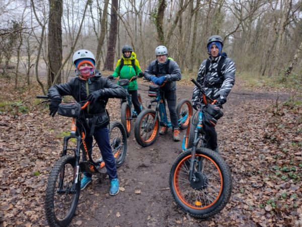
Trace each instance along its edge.
<path fill-rule="evenodd" d="M 48 61 L 49 73 L 47 78 L 48 86 L 54 82 L 55 75 L 62 65 L 62 0 L 49 0 L 49 22 L 48 22 Z M 55 83 L 61 83 L 61 75 Z"/>

